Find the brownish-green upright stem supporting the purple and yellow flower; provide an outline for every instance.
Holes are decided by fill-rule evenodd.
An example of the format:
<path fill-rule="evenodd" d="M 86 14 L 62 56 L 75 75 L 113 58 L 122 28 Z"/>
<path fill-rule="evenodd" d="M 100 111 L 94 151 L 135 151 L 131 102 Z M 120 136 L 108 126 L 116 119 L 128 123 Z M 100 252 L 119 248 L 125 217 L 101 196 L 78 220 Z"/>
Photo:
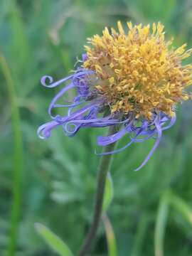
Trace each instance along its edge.
<path fill-rule="evenodd" d="M 108 135 L 114 134 L 117 132 L 117 126 L 112 126 L 109 129 Z M 104 152 L 112 151 L 116 143 L 109 144 L 105 146 Z M 100 159 L 100 164 L 98 166 L 97 171 L 97 190 L 95 194 L 95 208 L 94 208 L 94 215 L 92 219 L 92 224 L 90 226 L 90 230 L 87 233 L 87 237 L 85 238 L 82 247 L 80 248 L 80 252 L 78 256 L 84 256 L 90 250 L 90 246 L 92 240 L 95 238 L 97 233 L 97 228 L 100 224 L 100 218 L 102 215 L 102 203 L 105 193 L 105 181 L 107 177 L 108 171 L 110 171 L 110 166 L 112 162 L 112 154 L 103 155 Z"/>

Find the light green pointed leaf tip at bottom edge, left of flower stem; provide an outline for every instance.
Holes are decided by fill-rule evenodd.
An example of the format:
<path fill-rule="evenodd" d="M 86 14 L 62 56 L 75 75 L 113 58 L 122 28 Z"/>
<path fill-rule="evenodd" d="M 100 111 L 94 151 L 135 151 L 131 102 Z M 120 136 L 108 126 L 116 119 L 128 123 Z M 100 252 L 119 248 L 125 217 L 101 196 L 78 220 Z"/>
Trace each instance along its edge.
<path fill-rule="evenodd" d="M 41 237 L 46 241 L 46 243 L 55 251 L 58 252 L 60 256 L 73 256 L 73 253 L 70 251 L 68 245 L 65 245 L 57 235 L 50 231 L 46 226 L 41 223 L 35 224 L 37 232 Z"/>

